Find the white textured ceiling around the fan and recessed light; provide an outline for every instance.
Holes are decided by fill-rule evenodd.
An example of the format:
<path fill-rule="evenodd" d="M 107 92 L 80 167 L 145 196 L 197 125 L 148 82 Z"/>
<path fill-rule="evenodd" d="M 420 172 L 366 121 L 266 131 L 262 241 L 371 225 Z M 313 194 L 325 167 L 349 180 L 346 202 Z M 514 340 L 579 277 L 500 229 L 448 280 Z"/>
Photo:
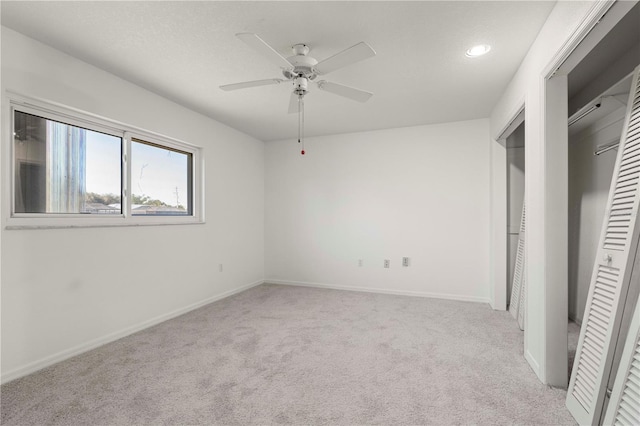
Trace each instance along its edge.
<path fill-rule="evenodd" d="M 553 8 L 551 1 L 0 2 L 2 24 L 264 141 L 293 138 L 290 86 L 223 92 L 281 77 L 238 40 L 253 32 L 283 56 L 318 60 L 360 41 L 377 56 L 324 79 L 371 91 L 364 104 L 315 89 L 306 135 L 488 117 Z M 464 52 L 487 43 L 492 51 Z M 313 90 L 315 89 L 315 90 Z"/>

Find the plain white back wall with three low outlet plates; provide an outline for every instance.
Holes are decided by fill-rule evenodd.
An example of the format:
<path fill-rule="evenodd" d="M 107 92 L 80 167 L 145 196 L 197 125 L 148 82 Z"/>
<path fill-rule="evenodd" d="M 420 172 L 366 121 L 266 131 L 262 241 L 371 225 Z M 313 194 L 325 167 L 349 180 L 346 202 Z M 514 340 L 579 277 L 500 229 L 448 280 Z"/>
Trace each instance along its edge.
<path fill-rule="evenodd" d="M 267 281 L 488 302 L 488 120 L 265 146 Z"/>

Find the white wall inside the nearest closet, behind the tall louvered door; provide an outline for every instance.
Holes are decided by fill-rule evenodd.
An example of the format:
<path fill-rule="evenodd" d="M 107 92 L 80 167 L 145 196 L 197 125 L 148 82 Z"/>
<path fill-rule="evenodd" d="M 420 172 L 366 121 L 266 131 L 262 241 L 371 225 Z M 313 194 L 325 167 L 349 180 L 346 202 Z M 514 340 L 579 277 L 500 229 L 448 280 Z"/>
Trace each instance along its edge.
<path fill-rule="evenodd" d="M 569 318 L 581 323 L 602 230 L 617 150 L 593 155 L 619 140 L 621 107 L 570 138 L 569 144 Z"/>

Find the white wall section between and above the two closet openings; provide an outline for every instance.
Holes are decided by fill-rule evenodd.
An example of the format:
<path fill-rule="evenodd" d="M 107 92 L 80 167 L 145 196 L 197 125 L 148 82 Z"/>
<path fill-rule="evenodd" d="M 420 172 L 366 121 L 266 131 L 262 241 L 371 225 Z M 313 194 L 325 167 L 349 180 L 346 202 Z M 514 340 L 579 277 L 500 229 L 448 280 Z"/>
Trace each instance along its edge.
<path fill-rule="evenodd" d="M 522 99 L 525 99 L 527 307 L 524 350 L 525 358 L 540 380 L 556 386 L 567 385 L 567 296 L 563 272 L 563 269 L 566 271 L 566 237 L 563 236 L 566 233 L 562 223 L 555 223 L 566 221 L 566 216 L 558 215 L 557 211 L 563 210 L 563 196 L 566 203 L 567 178 L 562 176 L 561 163 L 567 147 L 559 146 L 558 140 L 550 137 L 548 120 L 555 117 L 554 127 L 560 129 L 562 111 L 549 109 L 549 97 L 555 94 L 558 97 L 555 100 L 560 102 L 560 95 L 566 98 L 566 89 L 564 94 L 557 93 L 557 88 L 549 89 L 554 84 L 558 87 L 566 85 L 566 78 L 558 76 L 555 82 L 545 82 L 545 77 L 567 47 L 577 43 L 604 4 L 556 3 L 494 107 L 490 120 L 491 136 L 495 140 L 521 109 Z M 566 109 L 566 105 L 564 107 Z M 491 248 L 492 253 L 500 250 Z"/>

